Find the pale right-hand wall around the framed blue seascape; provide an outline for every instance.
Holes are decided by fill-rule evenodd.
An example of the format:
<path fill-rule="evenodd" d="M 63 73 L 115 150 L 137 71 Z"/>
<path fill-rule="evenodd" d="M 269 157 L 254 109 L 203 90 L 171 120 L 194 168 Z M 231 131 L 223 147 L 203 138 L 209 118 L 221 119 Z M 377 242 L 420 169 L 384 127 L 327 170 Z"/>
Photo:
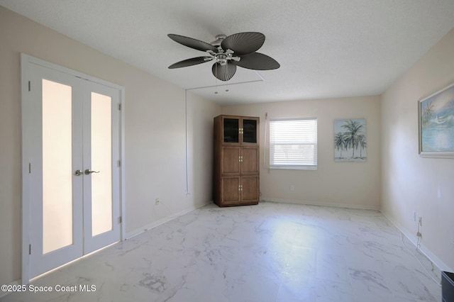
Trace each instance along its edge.
<path fill-rule="evenodd" d="M 453 82 L 451 30 L 382 96 L 382 211 L 412 240 L 422 216 L 423 251 L 451 272 L 454 159 L 419 157 L 418 100 Z"/>

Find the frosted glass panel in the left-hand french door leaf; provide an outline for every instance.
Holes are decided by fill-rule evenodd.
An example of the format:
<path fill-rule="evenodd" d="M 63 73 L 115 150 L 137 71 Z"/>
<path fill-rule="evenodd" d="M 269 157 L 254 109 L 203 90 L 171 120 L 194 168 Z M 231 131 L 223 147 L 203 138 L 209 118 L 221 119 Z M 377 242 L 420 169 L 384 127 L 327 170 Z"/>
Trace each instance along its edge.
<path fill-rule="evenodd" d="M 72 87 L 43 79 L 43 254 L 72 244 Z"/>

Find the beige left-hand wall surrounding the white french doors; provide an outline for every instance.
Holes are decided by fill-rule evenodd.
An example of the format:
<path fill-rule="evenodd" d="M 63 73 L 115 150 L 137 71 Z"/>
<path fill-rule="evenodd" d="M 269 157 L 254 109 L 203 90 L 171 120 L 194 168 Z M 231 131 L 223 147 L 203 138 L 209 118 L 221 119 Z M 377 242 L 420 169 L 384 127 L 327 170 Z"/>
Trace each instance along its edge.
<path fill-rule="evenodd" d="M 1 6 L 0 45 L 0 284 L 21 277 L 21 52 L 125 86 L 127 233 L 211 201 L 212 120 L 220 106 L 188 93 L 187 128 L 183 89 Z M 194 140 L 189 195 L 187 133 Z"/>

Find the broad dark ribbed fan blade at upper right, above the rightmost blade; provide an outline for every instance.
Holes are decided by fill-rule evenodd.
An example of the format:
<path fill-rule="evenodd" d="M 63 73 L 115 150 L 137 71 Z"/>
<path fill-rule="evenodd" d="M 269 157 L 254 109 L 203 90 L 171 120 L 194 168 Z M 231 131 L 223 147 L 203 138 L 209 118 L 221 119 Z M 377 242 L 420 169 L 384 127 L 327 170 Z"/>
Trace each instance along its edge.
<path fill-rule="evenodd" d="M 265 43 L 265 35 L 262 33 L 235 33 L 225 38 L 221 47 L 223 50 L 233 50 L 235 55 L 248 55 L 259 50 L 263 43 Z"/>

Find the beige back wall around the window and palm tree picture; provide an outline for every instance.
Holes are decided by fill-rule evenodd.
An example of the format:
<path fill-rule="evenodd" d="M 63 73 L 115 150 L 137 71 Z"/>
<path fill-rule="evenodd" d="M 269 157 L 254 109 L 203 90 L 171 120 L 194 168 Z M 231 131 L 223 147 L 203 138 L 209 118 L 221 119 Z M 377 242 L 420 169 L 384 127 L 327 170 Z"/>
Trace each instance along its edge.
<path fill-rule="evenodd" d="M 261 199 L 292 203 L 380 208 L 380 97 L 318 99 L 224 106 L 223 114 L 260 117 Z M 267 169 L 263 165 L 265 113 L 269 118 L 311 118 L 318 120 L 318 169 Z M 367 162 L 334 162 L 333 121 L 365 118 Z M 268 144 L 267 144 L 268 146 Z M 293 184 L 294 191 L 289 191 Z"/>

